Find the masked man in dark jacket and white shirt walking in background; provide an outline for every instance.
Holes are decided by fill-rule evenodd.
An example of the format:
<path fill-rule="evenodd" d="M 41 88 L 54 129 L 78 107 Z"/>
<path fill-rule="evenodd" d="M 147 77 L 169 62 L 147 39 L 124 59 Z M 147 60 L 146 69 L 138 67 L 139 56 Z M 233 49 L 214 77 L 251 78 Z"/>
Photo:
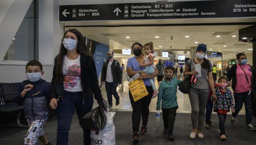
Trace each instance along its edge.
<path fill-rule="evenodd" d="M 120 97 L 117 93 L 117 86 L 118 83 L 122 83 L 122 73 L 119 62 L 113 58 L 113 51 L 109 51 L 106 55 L 107 60 L 102 66 L 101 82 L 102 85 L 105 83 L 105 89 L 110 106 L 109 108 L 112 108 L 112 94 L 116 99 L 116 105 L 119 105 L 120 102 Z"/>

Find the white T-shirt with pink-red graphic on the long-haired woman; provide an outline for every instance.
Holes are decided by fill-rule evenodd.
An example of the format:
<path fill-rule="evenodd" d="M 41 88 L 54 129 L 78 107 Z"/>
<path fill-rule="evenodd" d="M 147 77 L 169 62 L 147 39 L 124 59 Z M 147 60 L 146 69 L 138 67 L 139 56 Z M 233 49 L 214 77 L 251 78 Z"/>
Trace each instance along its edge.
<path fill-rule="evenodd" d="M 64 61 L 63 61 L 62 73 L 63 73 L 63 83 L 64 83 L 65 91 L 70 91 L 70 92 L 82 91 L 80 55 L 75 60 L 70 60 L 65 55 Z"/>

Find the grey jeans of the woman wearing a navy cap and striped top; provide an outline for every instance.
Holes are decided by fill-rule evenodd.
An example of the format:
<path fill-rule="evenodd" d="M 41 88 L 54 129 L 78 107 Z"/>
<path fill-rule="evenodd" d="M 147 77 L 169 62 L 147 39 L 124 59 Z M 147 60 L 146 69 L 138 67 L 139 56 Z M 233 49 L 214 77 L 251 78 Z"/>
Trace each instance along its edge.
<path fill-rule="evenodd" d="M 191 87 L 188 95 L 191 104 L 192 127 L 202 130 L 209 89 L 196 89 Z"/>

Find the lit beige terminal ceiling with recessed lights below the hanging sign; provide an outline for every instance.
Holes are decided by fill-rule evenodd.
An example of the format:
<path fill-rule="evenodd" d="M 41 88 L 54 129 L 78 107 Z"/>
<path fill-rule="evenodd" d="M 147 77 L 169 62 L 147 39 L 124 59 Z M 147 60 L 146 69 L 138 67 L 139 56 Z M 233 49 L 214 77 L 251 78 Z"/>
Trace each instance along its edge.
<path fill-rule="evenodd" d="M 184 51 L 205 43 L 209 51 L 252 53 L 252 43 L 238 41 L 238 30 L 250 25 L 66 27 L 79 29 L 91 40 L 113 49 L 130 49 L 132 43 L 153 42 L 154 49 Z M 156 37 L 157 36 L 157 37 Z"/>

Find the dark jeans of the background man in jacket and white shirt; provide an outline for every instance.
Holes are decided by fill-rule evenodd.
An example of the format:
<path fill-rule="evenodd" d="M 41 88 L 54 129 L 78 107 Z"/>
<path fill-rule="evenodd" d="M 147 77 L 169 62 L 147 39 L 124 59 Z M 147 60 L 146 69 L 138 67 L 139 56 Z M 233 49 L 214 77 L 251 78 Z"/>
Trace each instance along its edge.
<path fill-rule="evenodd" d="M 107 97 L 108 97 L 108 102 L 109 102 L 109 105 L 111 106 L 112 105 L 112 94 L 114 96 L 115 99 L 119 99 L 119 95 L 117 93 L 117 86 L 118 86 L 118 83 L 116 82 L 107 82 L 105 81 L 105 87 L 106 87 L 106 92 L 107 92 Z"/>

